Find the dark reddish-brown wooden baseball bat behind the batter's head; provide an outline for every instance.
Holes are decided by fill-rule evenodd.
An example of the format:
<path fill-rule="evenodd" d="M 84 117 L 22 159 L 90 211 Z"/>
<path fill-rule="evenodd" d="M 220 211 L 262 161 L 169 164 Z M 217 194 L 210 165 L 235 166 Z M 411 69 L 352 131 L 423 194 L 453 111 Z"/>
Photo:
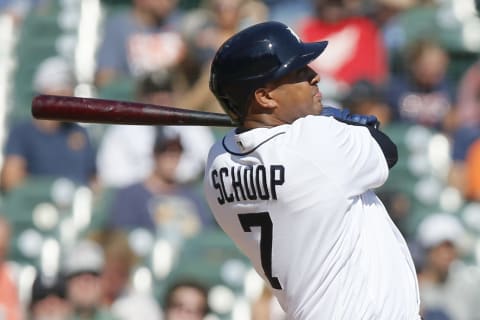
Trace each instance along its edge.
<path fill-rule="evenodd" d="M 71 96 L 38 95 L 32 100 L 36 119 L 136 125 L 234 127 L 226 114 L 175 107 Z"/>

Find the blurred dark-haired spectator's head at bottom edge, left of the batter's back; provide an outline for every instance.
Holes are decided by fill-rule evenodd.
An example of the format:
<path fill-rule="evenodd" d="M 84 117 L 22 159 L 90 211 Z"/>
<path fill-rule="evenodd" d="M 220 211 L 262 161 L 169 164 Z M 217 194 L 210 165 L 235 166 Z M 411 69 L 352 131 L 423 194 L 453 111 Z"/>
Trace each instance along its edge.
<path fill-rule="evenodd" d="M 165 320 L 202 320 L 209 312 L 208 288 L 198 281 L 179 280 L 167 289 Z"/>

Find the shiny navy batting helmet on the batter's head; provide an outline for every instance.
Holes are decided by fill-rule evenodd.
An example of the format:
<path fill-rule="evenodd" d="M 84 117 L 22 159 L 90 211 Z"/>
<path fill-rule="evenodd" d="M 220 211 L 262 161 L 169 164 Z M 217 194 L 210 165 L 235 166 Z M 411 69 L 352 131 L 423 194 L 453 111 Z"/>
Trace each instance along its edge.
<path fill-rule="evenodd" d="M 253 92 L 318 57 L 327 41 L 304 43 L 283 23 L 248 27 L 218 49 L 210 70 L 210 90 L 233 121 L 241 123 Z"/>

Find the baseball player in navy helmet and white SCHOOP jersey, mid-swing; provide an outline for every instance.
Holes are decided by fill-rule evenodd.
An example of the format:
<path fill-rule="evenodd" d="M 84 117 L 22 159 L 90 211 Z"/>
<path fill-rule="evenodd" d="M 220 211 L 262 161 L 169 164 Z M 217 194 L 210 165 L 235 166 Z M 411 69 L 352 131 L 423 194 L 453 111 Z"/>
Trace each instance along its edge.
<path fill-rule="evenodd" d="M 322 105 L 308 64 L 326 46 L 270 21 L 219 48 L 210 89 L 239 125 L 210 150 L 209 205 L 289 319 L 420 319 L 411 255 L 372 191 L 396 146 L 374 116 Z"/>

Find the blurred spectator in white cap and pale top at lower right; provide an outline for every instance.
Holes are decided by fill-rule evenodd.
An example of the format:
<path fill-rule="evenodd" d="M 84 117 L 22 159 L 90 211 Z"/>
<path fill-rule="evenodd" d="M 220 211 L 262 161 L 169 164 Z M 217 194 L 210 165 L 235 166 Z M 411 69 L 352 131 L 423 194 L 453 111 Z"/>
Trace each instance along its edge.
<path fill-rule="evenodd" d="M 418 226 L 417 240 L 425 254 L 418 273 L 425 320 L 440 319 L 439 314 L 441 319 L 480 319 L 480 271 L 462 260 L 466 235 L 453 214 L 431 214 Z"/>

